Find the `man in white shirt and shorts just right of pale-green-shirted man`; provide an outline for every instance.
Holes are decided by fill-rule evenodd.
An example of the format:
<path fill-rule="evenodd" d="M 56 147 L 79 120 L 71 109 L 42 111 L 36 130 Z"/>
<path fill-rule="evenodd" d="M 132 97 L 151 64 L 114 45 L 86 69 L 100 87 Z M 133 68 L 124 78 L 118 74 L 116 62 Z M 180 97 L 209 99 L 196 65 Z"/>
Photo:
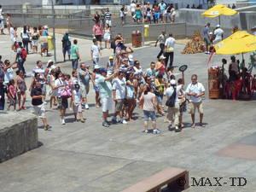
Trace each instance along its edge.
<path fill-rule="evenodd" d="M 118 77 L 113 79 L 113 101 L 115 102 L 115 113 L 113 116 L 113 123 L 117 123 L 117 115 L 120 117 L 120 122 L 122 124 L 127 124 L 125 119 L 123 119 L 123 109 L 125 104 L 126 96 L 126 80 L 125 73 L 122 70 L 119 70 Z"/>

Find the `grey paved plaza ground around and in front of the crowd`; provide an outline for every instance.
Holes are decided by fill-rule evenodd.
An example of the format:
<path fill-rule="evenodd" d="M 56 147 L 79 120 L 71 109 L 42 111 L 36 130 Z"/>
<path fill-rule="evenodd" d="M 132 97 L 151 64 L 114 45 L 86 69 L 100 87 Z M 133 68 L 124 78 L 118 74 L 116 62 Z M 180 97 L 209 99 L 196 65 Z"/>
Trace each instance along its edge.
<path fill-rule="evenodd" d="M 61 35 L 57 35 L 57 61 L 62 61 L 60 39 Z M 0 43 L 3 59 L 14 61 L 9 37 L 0 36 Z M 90 44 L 88 40 L 79 39 L 82 61 L 88 63 Z M 183 47 L 183 44 L 177 44 L 174 65 L 189 66 L 185 72 L 186 85 L 191 74 L 197 73 L 207 89 L 208 55 L 182 55 Z M 158 47 L 149 44 L 136 49 L 134 56 L 146 69 L 150 61 L 155 61 L 158 51 Z M 102 66 L 110 53 L 108 49 L 103 50 Z M 230 61 L 229 56 L 215 55 L 214 65 L 220 66 L 223 57 Z M 37 60 L 46 62 L 49 59 L 28 55 L 26 70 L 32 70 Z M 70 62 L 57 65 L 71 73 Z M 176 73 L 180 77 L 177 70 Z M 31 81 L 26 80 L 27 83 Z M 143 115 L 138 108 L 136 121 L 103 128 L 102 110 L 95 108 L 94 96 L 91 89 L 90 109 L 84 112 L 84 124 L 73 122 L 73 113 L 69 110 L 66 125 L 61 125 L 57 110 L 47 112 L 52 125 L 50 131 L 44 131 L 38 120 L 38 137 L 42 146 L 0 164 L 1 192 L 119 192 L 170 166 L 187 169 L 190 185 L 192 177 L 209 177 L 212 185 L 215 184 L 213 177 L 224 177 L 223 182 L 227 183 L 223 186 L 190 186 L 186 192 L 256 191 L 255 101 L 210 100 L 206 95 L 203 101 L 205 128 L 197 126 L 191 129 L 189 114 L 184 113 L 187 127 L 182 132 L 168 131 L 164 117 L 159 117 L 157 127 L 161 133 L 153 135 L 142 132 Z M 28 96 L 26 105 L 30 106 L 30 102 Z M 30 109 L 26 111 L 31 113 Z M 198 122 L 198 114 L 196 119 Z M 230 186 L 230 177 L 245 177 L 247 183 L 240 187 Z"/>

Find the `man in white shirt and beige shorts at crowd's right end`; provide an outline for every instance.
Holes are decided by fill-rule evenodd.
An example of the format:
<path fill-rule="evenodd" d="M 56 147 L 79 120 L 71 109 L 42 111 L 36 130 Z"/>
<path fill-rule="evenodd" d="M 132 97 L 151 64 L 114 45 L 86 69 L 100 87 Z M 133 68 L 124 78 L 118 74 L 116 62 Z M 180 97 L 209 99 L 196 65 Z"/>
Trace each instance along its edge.
<path fill-rule="evenodd" d="M 202 123 L 203 119 L 203 106 L 202 106 L 202 98 L 201 96 L 205 95 L 205 88 L 204 86 L 197 82 L 197 75 L 193 74 L 191 76 L 191 81 L 187 87 L 186 94 L 187 96 L 190 96 L 190 103 L 189 103 L 189 113 L 191 114 L 192 119 L 192 128 L 195 128 L 195 108 L 198 108 L 198 111 L 200 113 L 200 126 L 205 127 L 205 125 Z"/>

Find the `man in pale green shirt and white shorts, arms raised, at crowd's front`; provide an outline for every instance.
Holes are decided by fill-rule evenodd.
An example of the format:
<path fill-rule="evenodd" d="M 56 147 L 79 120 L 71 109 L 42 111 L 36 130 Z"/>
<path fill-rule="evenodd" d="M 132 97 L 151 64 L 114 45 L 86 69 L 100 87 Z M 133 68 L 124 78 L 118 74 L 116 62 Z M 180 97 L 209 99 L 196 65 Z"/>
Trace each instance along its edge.
<path fill-rule="evenodd" d="M 102 103 L 102 126 L 109 127 L 108 111 L 112 109 L 112 84 L 111 80 L 115 78 L 116 73 L 107 77 L 107 69 L 100 68 L 100 75 L 96 79 L 96 84 L 99 88 L 101 103 Z"/>

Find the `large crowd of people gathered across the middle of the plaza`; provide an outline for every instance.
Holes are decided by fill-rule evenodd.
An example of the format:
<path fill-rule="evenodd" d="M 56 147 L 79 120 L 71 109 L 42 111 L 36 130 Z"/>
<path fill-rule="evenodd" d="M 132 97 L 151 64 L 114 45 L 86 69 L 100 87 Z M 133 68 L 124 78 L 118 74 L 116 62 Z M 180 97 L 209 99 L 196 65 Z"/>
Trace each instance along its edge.
<path fill-rule="evenodd" d="M 161 35 L 165 36 L 165 32 Z M 191 106 L 189 108 L 192 117 L 191 126 L 195 127 L 195 108 L 199 109 L 200 125 L 204 126 L 201 104 L 204 87 L 197 82 L 197 76 L 193 75 L 192 83 L 187 90 L 183 90 L 183 79 L 176 79 L 173 73 L 174 67 L 171 63 L 169 67 L 167 65 L 168 60 L 166 61 L 165 55 L 170 55 L 172 52 L 173 61 L 175 43 L 172 34 L 169 38 L 169 40 L 166 38 L 165 47 L 161 49 L 162 54 L 158 56 L 157 61 L 152 61 L 146 70 L 143 70 L 140 61 L 134 58 L 133 49 L 125 46 L 121 34 L 114 38 L 113 55 L 109 56 L 108 63 L 105 65 L 100 60 L 100 44 L 97 43 L 97 38 L 93 38 L 90 49 L 93 67 L 90 70 L 86 63 L 79 63 L 81 57 L 78 40 L 74 39 L 71 42 L 68 33 L 65 33 L 62 38 L 63 56 L 65 60 L 66 53 L 68 54 L 73 70 L 70 74 L 63 73 L 61 67 L 55 66 L 51 60 L 46 66 L 42 61 L 37 61 L 32 69 L 31 84 L 26 84 L 26 70 L 24 65 L 20 65 L 19 58 L 14 63 L 8 59 L 2 61 L 1 58 L 0 108 L 4 109 L 7 98 L 7 110 L 26 110 L 26 93 L 29 92 L 34 113 L 42 119 L 45 130 L 50 127 L 45 113 L 48 104 L 49 108 L 60 111 L 62 125 L 66 124 L 68 108 L 73 111 L 75 120 L 84 123 L 84 111 L 89 109 L 87 96 L 92 84 L 96 108 L 102 107 L 102 126 L 104 127 L 117 123 L 127 124 L 135 120 L 134 110 L 139 107 L 143 109 L 144 132 L 148 132 L 148 120 L 152 119 L 153 133 L 160 133 L 156 126 L 156 113 L 166 116 L 166 121 L 171 123 L 171 127 L 181 131 L 187 96 Z M 163 40 L 159 40 L 161 44 Z M 22 41 L 16 49 L 21 59 L 22 51 L 27 49 L 26 43 Z M 15 68 L 17 68 L 16 72 Z M 165 96 L 166 103 L 164 103 Z M 108 121 L 109 111 L 112 110 L 113 117 Z M 90 116 L 90 112 L 86 113 L 86 116 Z"/>

